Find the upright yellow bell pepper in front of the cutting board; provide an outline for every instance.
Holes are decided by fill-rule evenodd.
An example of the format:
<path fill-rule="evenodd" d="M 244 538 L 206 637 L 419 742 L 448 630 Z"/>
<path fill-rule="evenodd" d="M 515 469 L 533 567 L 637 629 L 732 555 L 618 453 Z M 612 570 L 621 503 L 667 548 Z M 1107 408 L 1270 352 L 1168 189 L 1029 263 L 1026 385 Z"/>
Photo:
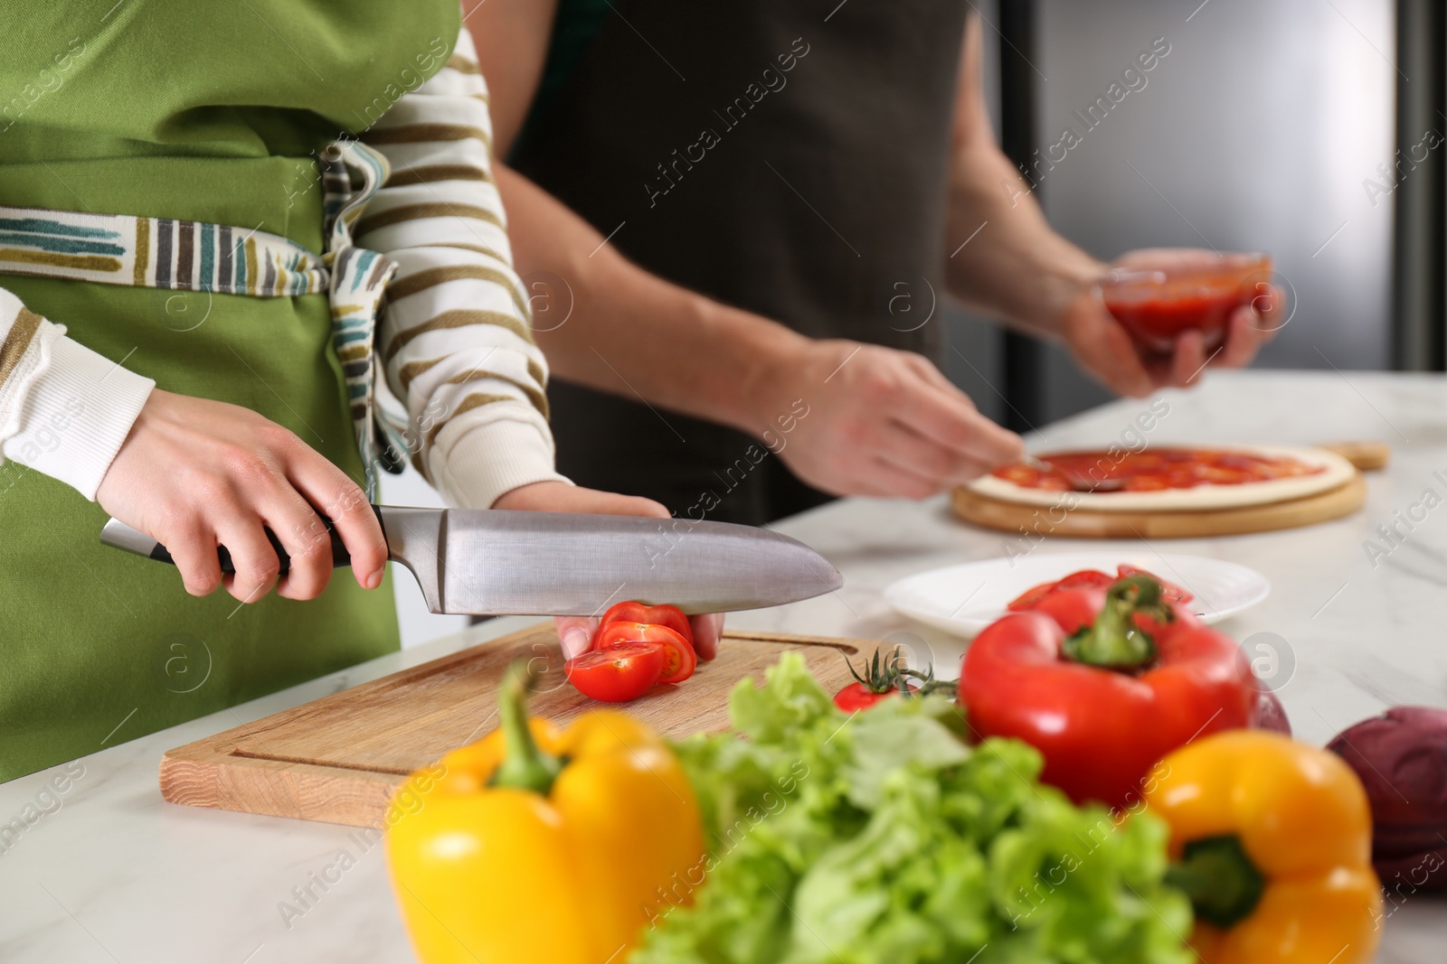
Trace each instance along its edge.
<path fill-rule="evenodd" d="M 509 671 L 499 728 L 443 757 L 386 834 L 424 964 L 621 964 L 660 905 L 692 902 L 703 828 L 673 753 L 616 711 L 530 721 L 527 688 Z"/>

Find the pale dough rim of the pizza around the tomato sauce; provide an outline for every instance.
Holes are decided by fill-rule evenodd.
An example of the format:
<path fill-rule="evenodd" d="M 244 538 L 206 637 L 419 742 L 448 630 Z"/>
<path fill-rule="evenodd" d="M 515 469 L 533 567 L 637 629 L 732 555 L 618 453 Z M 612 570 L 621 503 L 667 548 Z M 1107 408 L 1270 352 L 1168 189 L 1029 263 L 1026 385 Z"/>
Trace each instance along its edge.
<path fill-rule="evenodd" d="M 1356 475 L 1356 467 L 1336 452 L 1312 445 L 1152 445 L 1152 448 L 1201 448 L 1297 458 L 1318 467 L 1311 475 L 1249 481 L 1233 486 L 1195 486 L 1156 491 L 1059 491 L 1026 489 L 997 475 L 984 475 L 965 489 L 988 499 L 1024 506 L 1069 506 L 1097 512 L 1192 512 L 1263 506 L 1331 491 Z M 1101 451 L 1101 458 L 1110 458 Z"/>

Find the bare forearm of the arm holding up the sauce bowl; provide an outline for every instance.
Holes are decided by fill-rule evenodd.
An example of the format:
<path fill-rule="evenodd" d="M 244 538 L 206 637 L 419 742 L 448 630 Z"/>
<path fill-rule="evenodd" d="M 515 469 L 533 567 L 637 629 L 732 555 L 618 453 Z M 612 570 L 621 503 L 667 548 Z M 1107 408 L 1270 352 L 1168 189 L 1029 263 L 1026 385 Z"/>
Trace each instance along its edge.
<path fill-rule="evenodd" d="M 993 143 L 958 150 L 954 163 L 951 293 L 1016 327 L 1055 335 L 1101 263 L 1051 228 L 1029 182 Z"/>

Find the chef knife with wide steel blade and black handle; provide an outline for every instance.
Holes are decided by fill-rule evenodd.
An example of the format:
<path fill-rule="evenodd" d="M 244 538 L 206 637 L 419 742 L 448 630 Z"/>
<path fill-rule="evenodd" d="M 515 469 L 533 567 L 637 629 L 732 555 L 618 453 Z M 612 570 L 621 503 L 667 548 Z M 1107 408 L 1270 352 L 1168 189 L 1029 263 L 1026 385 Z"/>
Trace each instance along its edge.
<path fill-rule="evenodd" d="M 818 552 L 770 529 L 692 519 L 488 509 L 373 506 L 394 562 L 417 578 L 433 613 L 596 616 L 621 600 L 671 603 L 684 613 L 763 608 L 844 584 Z M 346 546 L 327 522 L 334 565 Z M 287 571 L 289 558 L 275 535 Z M 100 541 L 159 562 L 171 554 L 111 519 Z M 230 554 L 218 549 L 221 571 Z"/>

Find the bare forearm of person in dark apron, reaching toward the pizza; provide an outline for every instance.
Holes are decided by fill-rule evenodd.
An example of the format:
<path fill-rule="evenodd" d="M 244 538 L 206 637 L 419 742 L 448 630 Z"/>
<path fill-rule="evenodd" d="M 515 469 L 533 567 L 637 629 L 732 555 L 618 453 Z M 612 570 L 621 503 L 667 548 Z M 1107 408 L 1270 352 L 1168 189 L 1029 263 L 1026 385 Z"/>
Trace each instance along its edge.
<path fill-rule="evenodd" d="M 566 322 L 541 312 L 535 321 L 556 377 L 748 432 L 767 428 L 751 405 L 755 386 L 803 335 L 650 275 L 518 172 L 498 163 L 496 175 L 530 296 L 547 295 L 560 314 L 570 301 Z M 548 283 L 540 273 L 561 291 L 535 288 Z"/>

